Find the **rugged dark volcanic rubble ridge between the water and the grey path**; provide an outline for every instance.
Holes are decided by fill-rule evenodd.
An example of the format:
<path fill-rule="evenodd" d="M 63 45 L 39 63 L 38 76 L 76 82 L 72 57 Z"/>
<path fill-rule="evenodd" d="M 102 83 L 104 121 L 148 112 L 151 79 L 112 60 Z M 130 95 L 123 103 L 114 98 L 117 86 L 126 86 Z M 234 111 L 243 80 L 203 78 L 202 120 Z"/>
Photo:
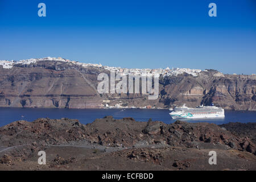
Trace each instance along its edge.
<path fill-rule="evenodd" d="M 34 122 L 16 121 L 3 126 L 0 128 L 0 136 L 0 147 L 16 147 L 13 154 L 20 159 L 26 159 L 33 152 L 51 145 L 74 142 L 88 142 L 106 147 L 145 147 L 156 144 L 195 149 L 232 148 L 255 154 L 255 144 L 250 137 L 240 137 L 213 123 L 176 121 L 166 124 L 151 120 L 137 122 L 133 118 L 114 119 L 108 116 L 82 125 L 77 119 L 41 118 Z M 141 158 L 139 154 L 134 155 L 138 155 L 135 158 Z M 152 156 L 160 159 L 159 156 Z M 131 155 L 131 158 L 134 156 Z"/>

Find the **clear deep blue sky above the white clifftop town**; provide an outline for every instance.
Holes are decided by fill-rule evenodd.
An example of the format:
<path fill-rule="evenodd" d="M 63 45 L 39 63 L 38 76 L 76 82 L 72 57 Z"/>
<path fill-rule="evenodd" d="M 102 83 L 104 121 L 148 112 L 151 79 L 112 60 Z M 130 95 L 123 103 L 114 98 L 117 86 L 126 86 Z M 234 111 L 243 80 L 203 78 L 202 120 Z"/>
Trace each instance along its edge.
<path fill-rule="evenodd" d="M 211 2 L 217 17 L 208 15 Z M 256 73 L 256 1 L 0 0 L 0 60 L 47 56 Z"/>

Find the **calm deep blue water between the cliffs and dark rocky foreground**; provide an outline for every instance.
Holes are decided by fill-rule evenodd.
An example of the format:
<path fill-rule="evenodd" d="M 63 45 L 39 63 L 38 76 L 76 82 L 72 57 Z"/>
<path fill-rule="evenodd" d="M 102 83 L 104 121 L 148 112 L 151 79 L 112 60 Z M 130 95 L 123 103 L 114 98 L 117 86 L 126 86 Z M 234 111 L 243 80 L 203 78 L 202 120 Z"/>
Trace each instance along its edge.
<path fill-rule="evenodd" d="M 0 126 L 13 121 L 34 121 L 38 118 L 72 118 L 79 119 L 81 123 L 93 122 L 96 118 L 113 115 L 114 118 L 133 117 L 136 121 L 163 121 L 175 122 L 171 119 L 167 109 L 23 109 L 23 108 L 0 108 Z M 23 117 L 22 117 L 23 116 Z M 214 119 L 183 119 L 187 122 L 210 122 L 220 125 L 228 122 L 256 122 L 256 111 L 225 111 L 225 118 Z"/>

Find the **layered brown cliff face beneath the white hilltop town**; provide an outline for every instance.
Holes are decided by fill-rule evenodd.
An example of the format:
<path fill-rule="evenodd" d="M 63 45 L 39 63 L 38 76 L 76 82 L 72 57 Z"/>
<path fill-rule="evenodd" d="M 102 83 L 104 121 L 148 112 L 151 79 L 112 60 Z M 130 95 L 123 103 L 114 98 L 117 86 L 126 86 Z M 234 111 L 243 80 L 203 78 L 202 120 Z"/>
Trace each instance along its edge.
<path fill-rule="evenodd" d="M 224 109 L 256 110 L 256 76 L 223 75 L 207 70 L 192 76 L 160 76 L 159 97 L 143 94 L 99 94 L 97 76 L 102 67 L 82 67 L 64 61 L 43 60 L 0 65 L 0 107 L 100 108 L 121 106 L 209 105 Z"/>

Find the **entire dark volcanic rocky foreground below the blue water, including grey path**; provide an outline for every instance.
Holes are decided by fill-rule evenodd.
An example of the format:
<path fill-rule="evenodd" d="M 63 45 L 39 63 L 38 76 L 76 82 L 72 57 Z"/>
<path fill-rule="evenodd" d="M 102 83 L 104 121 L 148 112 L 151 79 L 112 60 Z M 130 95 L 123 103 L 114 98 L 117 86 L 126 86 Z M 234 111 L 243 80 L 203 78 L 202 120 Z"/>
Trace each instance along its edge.
<path fill-rule="evenodd" d="M 112 116 L 87 125 L 68 118 L 16 121 L 0 128 L 0 169 L 256 170 L 255 123 L 235 125 L 241 124 Z M 208 163 L 212 150 L 217 165 Z M 38 151 L 46 152 L 46 165 L 38 164 Z"/>

